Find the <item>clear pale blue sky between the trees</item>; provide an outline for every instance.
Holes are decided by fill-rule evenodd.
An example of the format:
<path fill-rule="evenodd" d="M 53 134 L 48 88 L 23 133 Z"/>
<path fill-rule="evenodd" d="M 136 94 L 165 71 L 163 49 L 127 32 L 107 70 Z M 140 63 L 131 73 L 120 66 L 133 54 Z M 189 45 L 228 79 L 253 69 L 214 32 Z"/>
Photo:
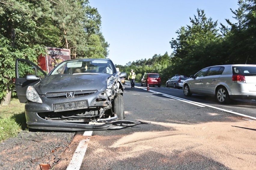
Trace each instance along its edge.
<path fill-rule="evenodd" d="M 170 46 L 181 26 L 191 25 L 189 17 L 197 16 L 197 8 L 206 17 L 227 25 L 235 21 L 231 12 L 237 0 L 89 0 L 101 15 L 101 31 L 110 44 L 109 55 L 114 64 L 126 65 L 173 51 Z M 220 25 L 219 25 L 220 26 Z"/>

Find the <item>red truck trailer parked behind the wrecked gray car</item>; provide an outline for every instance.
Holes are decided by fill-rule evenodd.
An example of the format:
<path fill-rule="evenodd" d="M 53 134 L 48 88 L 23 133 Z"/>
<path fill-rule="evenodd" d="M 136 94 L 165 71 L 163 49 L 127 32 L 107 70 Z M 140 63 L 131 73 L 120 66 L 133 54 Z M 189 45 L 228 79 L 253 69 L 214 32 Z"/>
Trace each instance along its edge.
<path fill-rule="evenodd" d="M 47 71 L 48 73 L 62 61 L 70 60 L 69 49 L 46 47 L 46 50 L 46 55 L 39 55 L 38 66 L 40 66 L 42 70 Z"/>

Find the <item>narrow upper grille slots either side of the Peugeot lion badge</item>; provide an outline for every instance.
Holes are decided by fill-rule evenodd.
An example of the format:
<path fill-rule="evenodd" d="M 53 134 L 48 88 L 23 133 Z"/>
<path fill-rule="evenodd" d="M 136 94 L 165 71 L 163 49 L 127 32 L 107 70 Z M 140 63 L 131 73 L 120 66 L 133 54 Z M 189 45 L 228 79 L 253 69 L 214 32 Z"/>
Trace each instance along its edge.
<path fill-rule="evenodd" d="M 86 96 L 86 95 L 89 95 L 89 94 L 93 94 L 96 91 L 97 90 L 75 91 L 74 92 L 74 97 Z M 70 91 L 68 91 L 68 92 L 70 92 Z M 46 93 L 45 97 L 47 97 L 47 98 L 66 98 L 66 94 L 68 92 Z"/>

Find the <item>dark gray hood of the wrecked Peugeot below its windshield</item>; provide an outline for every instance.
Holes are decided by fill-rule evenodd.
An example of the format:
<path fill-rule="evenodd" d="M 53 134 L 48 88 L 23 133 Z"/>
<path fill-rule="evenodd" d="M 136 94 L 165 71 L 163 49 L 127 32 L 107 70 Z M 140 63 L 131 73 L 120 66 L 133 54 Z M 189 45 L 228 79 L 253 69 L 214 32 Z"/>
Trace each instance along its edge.
<path fill-rule="evenodd" d="M 34 87 L 40 95 L 64 91 L 103 91 L 107 88 L 110 76 L 104 73 L 50 75 L 41 79 Z"/>

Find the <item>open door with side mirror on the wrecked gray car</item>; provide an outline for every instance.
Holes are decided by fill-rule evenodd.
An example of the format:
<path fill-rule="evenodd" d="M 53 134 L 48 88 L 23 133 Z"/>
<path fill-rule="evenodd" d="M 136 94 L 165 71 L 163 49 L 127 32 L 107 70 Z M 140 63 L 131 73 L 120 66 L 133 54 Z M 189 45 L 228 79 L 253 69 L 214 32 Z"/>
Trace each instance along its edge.
<path fill-rule="evenodd" d="M 28 76 L 29 75 L 29 76 Z M 17 58 L 15 62 L 15 88 L 20 103 L 26 103 L 26 90 L 35 85 L 47 74 L 29 60 Z"/>

